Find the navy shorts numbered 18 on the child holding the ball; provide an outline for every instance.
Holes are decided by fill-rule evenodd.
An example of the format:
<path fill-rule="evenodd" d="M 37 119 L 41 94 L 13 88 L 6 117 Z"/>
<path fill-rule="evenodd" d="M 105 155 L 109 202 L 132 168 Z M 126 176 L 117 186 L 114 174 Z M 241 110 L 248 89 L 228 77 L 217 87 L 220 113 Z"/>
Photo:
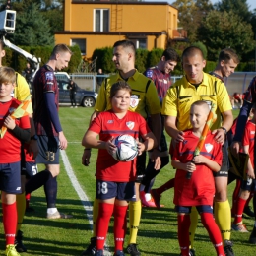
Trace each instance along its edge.
<path fill-rule="evenodd" d="M 125 201 L 136 201 L 135 182 L 112 182 L 97 179 L 96 199 L 106 200 L 110 198 Z"/>

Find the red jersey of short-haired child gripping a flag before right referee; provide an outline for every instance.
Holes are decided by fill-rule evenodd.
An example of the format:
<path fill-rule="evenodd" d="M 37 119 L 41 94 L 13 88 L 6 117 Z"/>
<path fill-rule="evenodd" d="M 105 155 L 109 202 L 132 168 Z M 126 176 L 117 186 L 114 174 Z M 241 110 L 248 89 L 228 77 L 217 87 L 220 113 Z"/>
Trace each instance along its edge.
<path fill-rule="evenodd" d="M 207 134 L 200 155 L 222 164 L 222 145 L 214 140 L 214 134 Z M 186 163 L 193 159 L 199 138 L 192 130 L 184 132 L 184 141 L 176 145 L 172 160 Z M 186 178 L 187 171 L 177 169 L 174 186 L 174 204 L 178 206 L 213 205 L 215 181 L 213 171 L 206 164 L 196 164 L 191 179 Z"/>

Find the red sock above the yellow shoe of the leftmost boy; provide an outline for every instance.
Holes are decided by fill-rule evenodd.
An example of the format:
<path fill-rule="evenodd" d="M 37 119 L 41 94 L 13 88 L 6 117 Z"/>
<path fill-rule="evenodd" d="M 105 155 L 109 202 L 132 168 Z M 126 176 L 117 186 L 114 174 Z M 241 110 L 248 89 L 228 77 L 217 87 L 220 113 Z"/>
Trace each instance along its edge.
<path fill-rule="evenodd" d="M 17 225 L 16 202 L 12 205 L 2 203 L 2 208 L 6 245 L 14 244 Z"/>

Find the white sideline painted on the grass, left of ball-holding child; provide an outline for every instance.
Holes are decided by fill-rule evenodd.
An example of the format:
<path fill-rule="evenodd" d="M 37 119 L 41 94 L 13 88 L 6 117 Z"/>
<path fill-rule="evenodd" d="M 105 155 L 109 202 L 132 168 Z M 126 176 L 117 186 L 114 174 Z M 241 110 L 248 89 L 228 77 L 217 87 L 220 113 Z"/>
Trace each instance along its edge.
<path fill-rule="evenodd" d="M 80 200 L 81 200 L 81 203 L 83 205 L 83 207 L 85 208 L 86 210 L 86 214 L 87 214 L 87 218 L 88 218 L 88 221 L 89 221 L 89 224 L 91 226 L 91 229 L 93 231 L 93 206 L 90 204 L 89 202 L 89 199 L 86 195 L 86 193 L 84 192 L 84 190 L 82 189 L 82 187 L 80 186 L 78 180 L 77 180 L 77 177 L 72 169 L 72 166 L 68 160 L 68 156 L 66 154 L 65 151 L 60 151 L 60 154 L 61 154 L 61 158 L 63 160 L 63 164 L 64 164 L 64 167 L 65 167 L 65 170 L 70 178 L 70 181 L 71 181 L 71 184 L 72 186 L 74 187 L 74 189 L 76 190 Z M 105 248 L 108 249 L 108 245 L 106 244 L 105 242 Z M 111 255 L 111 254 L 108 254 L 109 252 L 108 251 L 105 251 L 104 250 L 104 255 Z"/>

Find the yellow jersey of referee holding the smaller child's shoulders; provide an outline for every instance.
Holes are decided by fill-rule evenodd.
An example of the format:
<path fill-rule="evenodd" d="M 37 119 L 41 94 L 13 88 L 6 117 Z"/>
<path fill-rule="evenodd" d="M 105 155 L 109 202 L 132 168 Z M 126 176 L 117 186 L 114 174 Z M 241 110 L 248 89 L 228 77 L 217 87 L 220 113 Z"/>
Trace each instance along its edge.
<path fill-rule="evenodd" d="M 224 83 L 220 79 L 204 73 L 204 79 L 197 89 L 187 81 L 186 77 L 170 87 L 163 100 L 161 113 L 177 117 L 176 125 L 180 131 L 192 128 L 189 121 L 190 107 L 193 102 L 198 100 L 213 102 L 217 106 L 217 120 L 211 128 L 212 130 L 221 126 L 221 113 L 232 109 Z"/>

